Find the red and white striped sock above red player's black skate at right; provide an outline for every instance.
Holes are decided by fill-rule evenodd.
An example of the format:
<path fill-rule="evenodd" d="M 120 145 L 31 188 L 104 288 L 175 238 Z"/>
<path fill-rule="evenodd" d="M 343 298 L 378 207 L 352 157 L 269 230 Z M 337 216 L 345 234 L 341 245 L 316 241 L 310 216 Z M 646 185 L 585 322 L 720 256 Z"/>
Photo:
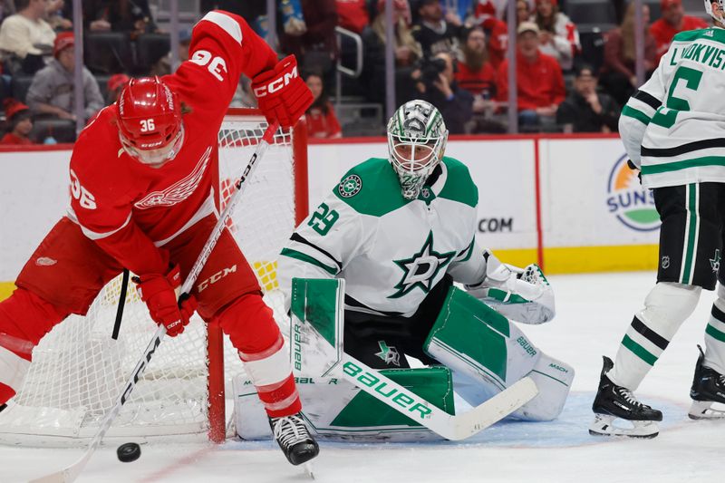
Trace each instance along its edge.
<path fill-rule="evenodd" d="M 266 413 L 277 418 L 299 412 L 302 406 L 292 377 L 289 351 L 272 309 L 262 297 L 247 294 L 238 298 L 219 315 L 219 323 L 245 362 L 247 375 Z"/>

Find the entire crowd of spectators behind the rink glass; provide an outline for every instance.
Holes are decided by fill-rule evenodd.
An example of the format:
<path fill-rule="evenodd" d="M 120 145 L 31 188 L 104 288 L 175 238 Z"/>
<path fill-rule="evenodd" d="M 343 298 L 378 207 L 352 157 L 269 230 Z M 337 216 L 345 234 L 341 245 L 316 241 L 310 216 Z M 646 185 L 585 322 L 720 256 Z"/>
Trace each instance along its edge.
<path fill-rule="evenodd" d="M 314 92 L 308 111 L 310 135 L 343 133 L 331 97 L 345 89 L 358 101 L 384 106 L 387 15 L 385 0 L 276 0 L 275 48 L 295 53 Z M 443 113 L 453 134 L 506 132 L 508 22 L 516 23 L 518 129 L 612 132 L 623 103 L 637 85 L 634 5 L 612 0 L 621 19 L 604 32 L 602 62 L 589 63 L 577 26 L 567 15 L 575 0 L 392 0 L 392 51 L 396 103 L 422 98 Z M 643 5 L 644 67 L 649 76 L 683 30 L 708 26 L 685 14 L 681 0 Z M 269 34 L 266 0 L 202 0 L 209 9 L 241 14 L 259 34 Z M 133 76 L 172 72 L 169 33 L 154 19 L 158 0 L 82 0 L 83 120 L 115 101 Z M 74 38 L 71 0 L 0 0 L 0 99 L 5 100 L 2 143 L 53 141 L 59 122 L 75 123 Z M 152 8 L 154 7 L 154 8 Z M 189 58 L 190 27 L 182 25 L 176 58 Z M 162 24 L 163 25 L 163 24 Z M 362 72 L 336 89 L 336 63 L 350 54 L 338 43 L 340 26 L 362 39 Z M 584 38 L 584 37 L 582 37 Z M 235 102 L 250 104 L 248 82 Z M 344 120 L 343 120 L 344 121 Z M 382 132 L 383 124 L 378 126 Z M 66 130 L 67 131 L 67 130 Z M 74 130 L 70 130 L 73 140 Z M 54 136 L 54 137 L 53 137 Z M 61 139 L 66 140 L 66 139 Z"/>

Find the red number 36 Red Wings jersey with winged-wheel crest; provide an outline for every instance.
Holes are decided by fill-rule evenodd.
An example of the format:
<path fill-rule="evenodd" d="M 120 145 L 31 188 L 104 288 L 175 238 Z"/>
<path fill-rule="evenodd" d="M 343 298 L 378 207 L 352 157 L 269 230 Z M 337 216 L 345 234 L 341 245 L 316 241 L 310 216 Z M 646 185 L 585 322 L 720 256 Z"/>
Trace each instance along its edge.
<path fill-rule="evenodd" d="M 115 104 L 82 130 L 73 149 L 68 216 L 137 274 L 165 273 L 168 260 L 157 246 L 213 212 L 218 130 L 239 77 L 254 77 L 277 62 L 241 17 L 223 11 L 195 25 L 189 53 L 189 61 L 163 77 L 190 110 L 174 159 L 154 169 L 126 154 Z"/>

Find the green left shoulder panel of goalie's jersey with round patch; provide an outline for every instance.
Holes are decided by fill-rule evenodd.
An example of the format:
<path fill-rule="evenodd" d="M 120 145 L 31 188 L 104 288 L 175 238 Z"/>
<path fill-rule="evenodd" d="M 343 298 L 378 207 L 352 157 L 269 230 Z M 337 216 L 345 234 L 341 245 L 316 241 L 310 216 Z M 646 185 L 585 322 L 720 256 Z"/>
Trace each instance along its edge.
<path fill-rule="evenodd" d="M 333 193 L 358 213 L 373 217 L 410 203 L 403 198 L 401 183 L 388 159 L 383 158 L 371 158 L 350 169 Z"/>

